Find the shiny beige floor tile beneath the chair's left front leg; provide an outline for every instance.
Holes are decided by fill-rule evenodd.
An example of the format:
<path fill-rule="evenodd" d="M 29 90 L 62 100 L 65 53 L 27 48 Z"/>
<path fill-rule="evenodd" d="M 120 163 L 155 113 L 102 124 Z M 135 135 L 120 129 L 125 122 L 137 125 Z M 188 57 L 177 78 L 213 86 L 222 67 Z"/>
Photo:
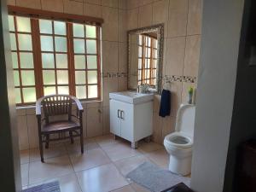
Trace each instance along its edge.
<path fill-rule="evenodd" d="M 46 179 L 61 177 L 73 172 L 73 167 L 67 155 L 50 158 L 29 164 L 29 184 L 42 182 Z"/>

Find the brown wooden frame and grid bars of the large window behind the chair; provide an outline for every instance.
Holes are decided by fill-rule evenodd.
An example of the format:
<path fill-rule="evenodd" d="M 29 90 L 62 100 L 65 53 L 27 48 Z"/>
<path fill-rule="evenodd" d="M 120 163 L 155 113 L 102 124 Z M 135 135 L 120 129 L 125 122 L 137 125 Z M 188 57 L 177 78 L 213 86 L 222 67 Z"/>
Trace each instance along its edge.
<path fill-rule="evenodd" d="M 44 96 L 44 81 L 43 81 L 43 71 L 47 70 L 46 68 L 43 68 L 42 64 L 42 53 L 48 53 L 49 51 L 43 51 L 41 50 L 41 44 L 40 44 L 40 37 L 41 35 L 44 36 L 50 36 L 53 38 L 53 46 L 54 50 L 50 51 L 51 54 L 54 55 L 54 61 L 55 61 L 55 67 L 50 68 L 49 70 L 55 70 L 55 84 L 52 84 L 55 86 L 55 91 L 57 93 L 57 89 L 59 86 L 68 86 L 69 88 L 69 94 L 75 96 L 76 93 L 76 84 L 75 84 L 75 67 L 74 67 L 74 55 L 77 55 L 74 53 L 73 49 L 73 23 L 79 23 L 84 25 L 84 57 L 85 57 L 85 73 L 86 73 L 86 84 L 83 84 L 86 87 L 86 98 L 80 99 L 83 101 L 91 101 L 91 100 L 101 100 L 102 98 L 102 80 L 101 80 L 101 24 L 103 22 L 102 19 L 94 18 L 94 17 L 87 17 L 87 16 L 80 16 L 80 15 L 69 15 L 69 14 L 61 14 L 61 13 L 55 13 L 55 12 L 49 12 L 49 11 L 42 11 L 37 9 L 25 9 L 15 6 L 9 6 L 9 15 L 14 15 L 15 18 L 15 40 L 16 40 L 16 50 L 12 52 L 17 52 L 17 58 L 18 58 L 18 69 L 15 69 L 19 71 L 19 78 L 20 78 L 20 99 L 21 103 L 17 103 L 17 106 L 26 106 L 34 104 L 35 102 L 24 102 L 23 94 L 22 94 L 22 79 L 21 79 L 21 70 L 20 70 L 20 54 L 18 54 L 19 50 L 19 44 L 18 44 L 18 33 L 26 33 L 26 32 L 18 32 L 17 31 L 17 23 L 16 23 L 16 16 L 24 16 L 28 17 L 31 20 L 31 34 L 32 37 L 32 51 L 25 51 L 25 52 L 32 52 L 33 55 L 33 63 L 34 67 L 30 68 L 29 70 L 33 70 L 35 74 L 35 85 L 32 87 L 35 87 L 36 90 L 36 97 L 37 99 L 41 96 Z M 64 21 L 66 22 L 66 35 L 56 35 L 54 31 L 52 34 L 43 34 L 40 33 L 39 30 L 39 19 L 47 19 L 52 20 L 52 30 L 54 30 L 54 22 L 53 21 Z M 96 26 L 96 38 L 87 38 L 86 32 L 85 32 L 85 24 L 86 25 L 92 25 Z M 63 70 L 67 70 L 68 72 L 68 84 L 57 84 L 57 70 L 61 70 L 61 68 L 56 67 L 56 60 L 55 55 L 61 54 L 60 51 L 55 51 L 55 36 L 58 37 L 65 37 L 67 39 L 67 52 L 64 54 L 67 54 L 67 68 Z M 93 39 L 96 40 L 96 69 L 88 69 L 87 65 L 87 54 L 86 52 L 86 40 L 87 39 Z M 25 68 L 22 68 L 24 70 Z M 26 69 L 25 69 L 26 70 Z M 95 71 L 97 74 L 97 83 L 96 84 L 88 84 L 88 72 L 89 71 Z M 82 85 L 82 84 L 81 84 Z M 97 96 L 94 98 L 88 98 L 88 86 L 89 85 L 97 85 Z M 46 86 L 51 86 L 47 84 Z M 27 86 L 26 86 L 27 87 Z M 18 88 L 18 87 L 17 87 Z"/>

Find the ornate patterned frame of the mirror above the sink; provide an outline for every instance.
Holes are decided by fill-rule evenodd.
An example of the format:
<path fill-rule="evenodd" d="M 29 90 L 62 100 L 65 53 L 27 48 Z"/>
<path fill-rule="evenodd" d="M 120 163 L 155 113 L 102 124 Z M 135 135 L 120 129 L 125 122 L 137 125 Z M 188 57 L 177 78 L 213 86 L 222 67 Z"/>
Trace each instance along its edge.
<path fill-rule="evenodd" d="M 163 49 L 164 49 L 164 24 L 158 24 L 154 26 L 146 26 L 142 28 L 133 29 L 127 32 L 127 43 L 128 43 L 128 51 L 127 51 L 127 61 L 128 61 L 128 81 L 127 86 L 128 90 L 134 90 L 131 88 L 131 35 L 132 34 L 142 34 L 147 32 L 157 32 L 157 40 L 158 40 L 158 58 L 156 65 L 156 84 L 155 89 L 160 94 L 161 92 L 161 78 L 162 78 L 162 66 L 163 66 Z"/>

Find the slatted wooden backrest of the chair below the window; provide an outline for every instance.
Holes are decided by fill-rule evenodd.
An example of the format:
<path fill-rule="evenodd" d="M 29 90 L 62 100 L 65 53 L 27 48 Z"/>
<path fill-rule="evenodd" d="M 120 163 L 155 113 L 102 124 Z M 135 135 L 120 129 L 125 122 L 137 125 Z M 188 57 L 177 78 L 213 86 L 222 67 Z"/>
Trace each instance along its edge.
<path fill-rule="evenodd" d="M 44 110 L 44 118 L 49 123 L 49 117 L 67 114 L 71 119 L 73 99 L 68 95 L 45 96 L 41 104 Z"/>

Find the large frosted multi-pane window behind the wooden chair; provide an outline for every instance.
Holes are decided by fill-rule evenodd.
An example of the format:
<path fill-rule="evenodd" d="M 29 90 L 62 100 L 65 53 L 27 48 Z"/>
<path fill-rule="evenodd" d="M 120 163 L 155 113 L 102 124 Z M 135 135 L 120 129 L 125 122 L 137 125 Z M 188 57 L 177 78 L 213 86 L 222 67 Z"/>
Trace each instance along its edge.
<path fill-rule="evenodd" d="M 101 97 L 100 26 L 9 15 L 16 103 Z"/>

